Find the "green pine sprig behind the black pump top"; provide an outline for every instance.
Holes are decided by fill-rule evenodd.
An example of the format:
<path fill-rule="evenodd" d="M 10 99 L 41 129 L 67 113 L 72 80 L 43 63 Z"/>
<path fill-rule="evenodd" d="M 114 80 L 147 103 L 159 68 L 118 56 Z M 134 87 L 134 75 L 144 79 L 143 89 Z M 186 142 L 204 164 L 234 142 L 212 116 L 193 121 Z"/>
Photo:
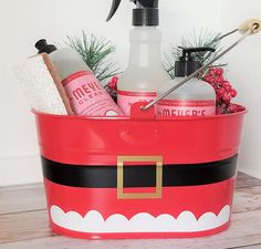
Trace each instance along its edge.
<path fill-rule="evenodd" d="M 221 41 L 220 38 L 221 33 L 215 33 L 208 30 L 200 30 L 200 33 L 197 34 L 194 30 L 194 33 L 189 39 L 182 38 L 181 46 L 184 48 L 195 48 L 195 46 L 210 46 L 216 49 L 215 53 L 210 52 L 198 52 L 195 53 L 197 60 L 203 65 L 207 62 L 209 62 L 211 59 L 213 59 L 221 50 Z M 164 68 L 168 72 L 168 74 L 171 76 L 171 79 L 175 77 L 175 61 L 177 61 L 182 55 L 182 51 L 178 48 L 170 48 L 170 52 L 164 53 Z M 227 64 L 216 64 L 212 65 L 212 68 L 217 66 L 225 66 Z M 203 72 L 202 76 L 206 72 Z"/>

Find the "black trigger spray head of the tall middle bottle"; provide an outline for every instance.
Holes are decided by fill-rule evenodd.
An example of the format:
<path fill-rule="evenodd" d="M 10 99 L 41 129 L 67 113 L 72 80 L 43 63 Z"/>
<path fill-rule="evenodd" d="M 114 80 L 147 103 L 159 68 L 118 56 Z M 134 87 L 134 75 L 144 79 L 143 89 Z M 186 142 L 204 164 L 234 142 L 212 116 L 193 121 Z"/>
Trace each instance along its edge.
<path fill-rule="evenodd" d="M 159 24 L 158 18 L 158 0 L 130 0 L 136 4 L 133 10 L 133 25 L 134 27 L 157 27 Z M 111 12 L 107 17 L 109 21 L 117 11 L 122 0 L 113 0 Z"/>

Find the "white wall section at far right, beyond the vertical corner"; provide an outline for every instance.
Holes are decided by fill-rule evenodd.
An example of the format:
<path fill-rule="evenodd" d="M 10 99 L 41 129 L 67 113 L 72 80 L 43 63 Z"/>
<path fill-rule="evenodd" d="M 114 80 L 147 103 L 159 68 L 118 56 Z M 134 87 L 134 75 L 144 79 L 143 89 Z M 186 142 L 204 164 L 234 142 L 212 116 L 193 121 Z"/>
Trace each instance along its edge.
<path fill-rule="evenodd" d="M 222 0 L 221 28 L 234 27 L 246 17 L 261 19 L 261 1 Z M 230 39 L 227 41 L 229 42 Z M 239 92 L 238 102 L 248 106 L 240 156 L 240 168 L 261 178 L 261 33 L 249 38 L 227 56 L 229 80 Z"/>

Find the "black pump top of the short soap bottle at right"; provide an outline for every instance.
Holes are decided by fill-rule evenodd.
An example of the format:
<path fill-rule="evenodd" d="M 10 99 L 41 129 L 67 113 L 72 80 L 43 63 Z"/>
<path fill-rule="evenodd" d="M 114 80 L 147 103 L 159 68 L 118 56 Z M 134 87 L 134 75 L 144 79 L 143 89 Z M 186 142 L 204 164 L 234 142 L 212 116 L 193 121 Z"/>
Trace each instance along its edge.
<path fill-rule="evenodd" d="M 182 56 L 179 58 L 179 61 L 175 62 L 175 75 L 178 77 L 188 76 L 202 66 L 200 62 L 196 60 L 196 56 L 192 55 L 192 53 L 216 51 L 213 48 L 208 46 L 178 48 L 182 50 Z"/>

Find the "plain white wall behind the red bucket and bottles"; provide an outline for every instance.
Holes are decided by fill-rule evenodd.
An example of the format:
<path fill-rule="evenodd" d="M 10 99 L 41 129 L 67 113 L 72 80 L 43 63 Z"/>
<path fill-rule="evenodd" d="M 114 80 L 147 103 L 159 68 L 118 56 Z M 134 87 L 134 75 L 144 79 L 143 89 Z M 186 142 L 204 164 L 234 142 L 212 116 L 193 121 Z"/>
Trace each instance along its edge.
<path fill-rule="evenodd" d="M 115 60 L 124 69 L 128 60 L 128 30 L 132 3 L 123 4 L 106 23 L 109 0 L 0 0 L 0 186 L 41 180 L 33 115 L 12 75 L 12 66 L 34 54 L 34 43 L 41 38 L 63 43 L 65 37 L 87 33 L 104 35 L 117 50 Z M 178 44 L 194 29 L 228 31 L 251 17 L 261 17 L 260 0 L 255 6 L 236 0 L 161 0 L 163 48 Z M 236 4 L 236 9 L 233 7 Z M 229 58 L 228 77 L 239 90 L 240 102 L 248 105 L 240 168 L 261 177 L 261 97 L 257 91 L 261 76 L 259 60 L 261 35 L 249 39 Z"/>

